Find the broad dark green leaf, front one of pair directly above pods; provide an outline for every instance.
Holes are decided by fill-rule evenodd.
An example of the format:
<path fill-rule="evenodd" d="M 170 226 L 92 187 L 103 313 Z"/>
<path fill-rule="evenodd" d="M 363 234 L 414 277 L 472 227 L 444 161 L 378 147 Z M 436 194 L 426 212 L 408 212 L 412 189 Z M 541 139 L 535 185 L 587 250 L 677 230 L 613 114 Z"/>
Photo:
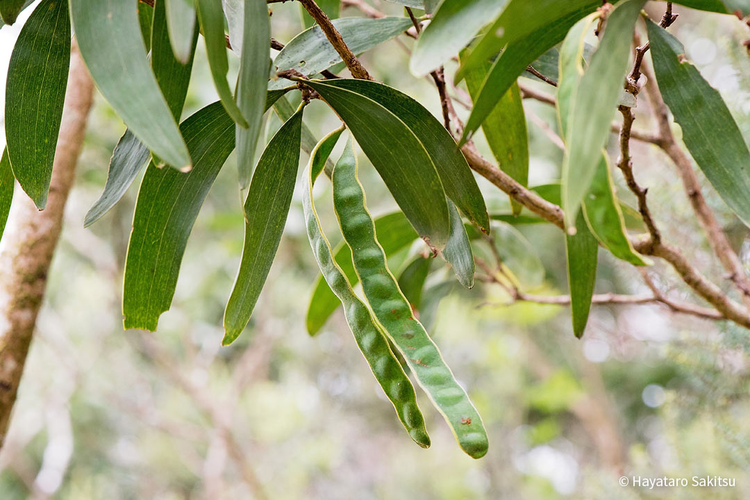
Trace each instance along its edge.
<path fill-rule="evenodd" d="M 434 161 L 395 112 L 356 91 L 309 80 L 347 124 L 414 229 L 442 250 L 450 235 L 446 193 Z"/>

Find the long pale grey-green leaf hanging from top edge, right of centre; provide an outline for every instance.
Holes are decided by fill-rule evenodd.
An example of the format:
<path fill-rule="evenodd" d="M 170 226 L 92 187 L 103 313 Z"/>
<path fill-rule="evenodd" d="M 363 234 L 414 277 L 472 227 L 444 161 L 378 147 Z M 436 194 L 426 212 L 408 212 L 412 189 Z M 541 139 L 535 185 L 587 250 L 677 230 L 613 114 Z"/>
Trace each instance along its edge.
<path fill-rule="evenodd" d="M 573 226 L 583 196 L 589 190 L 601 149 L 610 134 L 610 123 L 622 93 L 635 21 L 645 0 L 622 0 L 607 17 L 601 43 L 591 57 L 571 99 L 566 120 L 565 154 L 562 160 L 562 209 L 565 225 Z M 591 96 L 596 106 L 591 106 Z M 580 98 L 576 98 L 580 96 Z M 574 139 L 573 139 L 574 138 Z"/>

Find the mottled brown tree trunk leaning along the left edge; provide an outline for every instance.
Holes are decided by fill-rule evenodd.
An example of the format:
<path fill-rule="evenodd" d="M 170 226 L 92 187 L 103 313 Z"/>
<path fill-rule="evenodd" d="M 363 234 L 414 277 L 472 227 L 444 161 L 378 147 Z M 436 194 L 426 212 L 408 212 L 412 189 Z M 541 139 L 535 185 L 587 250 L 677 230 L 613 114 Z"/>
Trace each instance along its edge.
<path fill-rule="evenodd" d="M 49 264 L 62 229 L 65 201 L 73 184 L 93 95 L 94 83 L 74 47 L 49 201 L 43 211 L 37 211 L 20 188 L 13 196 L 0 253 L 0 448 L 5 443 Z"/>

